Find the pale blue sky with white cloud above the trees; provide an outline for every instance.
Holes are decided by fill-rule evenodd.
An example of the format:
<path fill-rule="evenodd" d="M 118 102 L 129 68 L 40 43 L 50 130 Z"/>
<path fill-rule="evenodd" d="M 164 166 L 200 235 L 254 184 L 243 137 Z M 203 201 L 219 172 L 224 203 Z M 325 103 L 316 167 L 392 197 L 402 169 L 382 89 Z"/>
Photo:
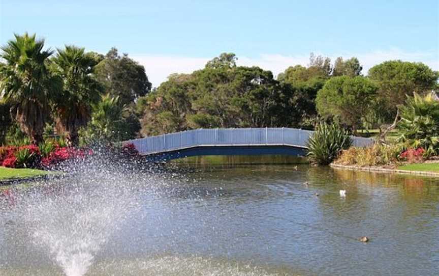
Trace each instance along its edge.
<path fill-rule="evenodd" d="M 431 67 L 439 63 L 438 0 L 0 3 L 2 45 L 14 33 L 27 31 L 45 38 L 51 47 L 76 44 L 105 53 L 115 46 L 133 57 L 165 57 L 168 61 L 175 57 L 190 60 L 187 63 L 224 51 L 245 57 L 245 64 L 261 66 L 261 60 L 273 62 L 273 57 L 284 59 L 283 65 L 288 58 L 303 63 L 301 57 L 311 51 L 330 57 L 357 55 L 364 60 L 394 55 Z M 372 61 L 363 63 L 367 67 Z M 151 63 L 160 59 L 140 62 L 154 67 Z M 279 68 L 266 69 L 280 70 L 281 65 L 272 66 Z"/>

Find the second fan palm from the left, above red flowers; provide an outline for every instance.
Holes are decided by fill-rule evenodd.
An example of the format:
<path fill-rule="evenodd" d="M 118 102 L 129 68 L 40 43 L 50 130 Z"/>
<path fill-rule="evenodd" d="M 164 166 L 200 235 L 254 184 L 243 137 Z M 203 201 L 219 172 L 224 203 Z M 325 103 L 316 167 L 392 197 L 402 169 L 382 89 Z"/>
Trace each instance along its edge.
<path fill-rule="evenodd" d="M 92 77 L 96 60 L 84 48 L 67 46 L 57 49 L 51 69 L 62 79 L 62 93 L 55 101 L 55 128 L 67 134 L 72 145 L 78 145 L 78 130 L 90 120 L 91 104 L 100 100 L 99 82 Z"/>

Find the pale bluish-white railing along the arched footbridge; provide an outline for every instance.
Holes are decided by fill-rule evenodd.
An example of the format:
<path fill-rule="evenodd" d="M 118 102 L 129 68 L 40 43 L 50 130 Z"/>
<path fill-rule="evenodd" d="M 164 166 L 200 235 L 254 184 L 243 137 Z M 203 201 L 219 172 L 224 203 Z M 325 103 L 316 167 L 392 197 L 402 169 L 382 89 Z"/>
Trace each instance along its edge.
<path fill-rule="evenodd" d="M 296 128 L 202 128 L 150 136 L 128 141 L 141 154 L 154 154 L 193 147 L 291 146 L 306 148 L 313 131 Z M 356 147 L 373 143 L 372 139 L 352 136 Z"/>

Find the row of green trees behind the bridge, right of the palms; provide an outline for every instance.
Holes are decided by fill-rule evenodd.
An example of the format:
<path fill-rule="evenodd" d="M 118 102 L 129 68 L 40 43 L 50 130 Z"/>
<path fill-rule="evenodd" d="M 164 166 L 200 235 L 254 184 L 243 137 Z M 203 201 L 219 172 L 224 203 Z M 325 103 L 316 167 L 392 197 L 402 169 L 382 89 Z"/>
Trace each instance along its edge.
<path fill-rule="evenodd" d="M 192 74 L 172 74 L 137 101 L 143 135 L 191 128 L 301 127 L 337 121 L 353 132 L 391 123 L 413 92 L 437 88 L 438 72 L 422 63 L 386 61 L 367 76 L 357 58 L 331 60 L 311 53 L 273 77 L 259 67 L 236 66 L 223 53 Z M 140 118 L 140 117 L 139 117 Z"/>

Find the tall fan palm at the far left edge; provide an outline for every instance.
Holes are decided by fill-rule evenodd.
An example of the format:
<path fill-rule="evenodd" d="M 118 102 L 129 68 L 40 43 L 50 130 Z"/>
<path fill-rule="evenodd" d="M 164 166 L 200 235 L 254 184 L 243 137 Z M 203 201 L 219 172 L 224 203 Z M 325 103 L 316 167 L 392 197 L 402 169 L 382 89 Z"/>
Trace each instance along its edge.
<path fill-rule="evenodd" d="M 53 51 L 43 50 L 44 40 L 37 40 L 35 34 L 14 36 L 15 40 L 0 48 L 6 62 L 0 67 L 0 100 L 11 105 L 21 130 L 38 144 L 43 140 L 50 99 L 59 87 L 46 67 Z"/>

